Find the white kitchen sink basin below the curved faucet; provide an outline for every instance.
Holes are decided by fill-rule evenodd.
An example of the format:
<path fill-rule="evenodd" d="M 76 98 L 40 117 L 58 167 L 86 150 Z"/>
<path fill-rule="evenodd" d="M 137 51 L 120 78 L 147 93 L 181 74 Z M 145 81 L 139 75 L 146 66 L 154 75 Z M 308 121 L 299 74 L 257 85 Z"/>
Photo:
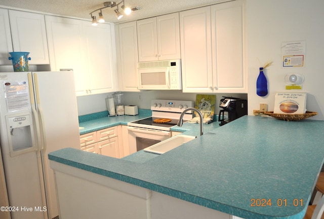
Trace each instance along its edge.
<path fill-rule="evenodd" d="M 194 138 L 195 136 L 190 136 L 190 135 L 181 135 L 181 134 L 176 135 L 167 140 L 153 144 L 152 146 L 144 149 L 144 151 L 154 153 L 154 154 L 164 154 L 172 149 L 179 147 L 180 145 L 188 141 L 191 141 Z"/>

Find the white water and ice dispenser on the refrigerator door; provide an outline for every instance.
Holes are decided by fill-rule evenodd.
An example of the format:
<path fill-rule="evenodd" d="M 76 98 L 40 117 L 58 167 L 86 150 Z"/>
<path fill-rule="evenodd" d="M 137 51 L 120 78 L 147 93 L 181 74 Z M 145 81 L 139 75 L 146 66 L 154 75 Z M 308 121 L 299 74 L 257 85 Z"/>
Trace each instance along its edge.
<path fill-rule="evenodd" d="M 30 115 L 7 117 L 10 156 L 16 156 L 35 150 Z"/>

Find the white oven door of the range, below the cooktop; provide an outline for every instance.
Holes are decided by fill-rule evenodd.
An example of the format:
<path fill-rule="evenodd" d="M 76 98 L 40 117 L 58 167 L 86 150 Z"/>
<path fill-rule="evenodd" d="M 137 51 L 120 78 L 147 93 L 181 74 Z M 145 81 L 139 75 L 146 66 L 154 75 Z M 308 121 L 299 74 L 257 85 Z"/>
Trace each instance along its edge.
<path fill-rule="evenodd" d="M 131 126 L 128 126 L 127 129 L 130 154 L 143 150 L 153 144 L 164 141 L 171 137 L 171 131 L 161 131 Z"/>

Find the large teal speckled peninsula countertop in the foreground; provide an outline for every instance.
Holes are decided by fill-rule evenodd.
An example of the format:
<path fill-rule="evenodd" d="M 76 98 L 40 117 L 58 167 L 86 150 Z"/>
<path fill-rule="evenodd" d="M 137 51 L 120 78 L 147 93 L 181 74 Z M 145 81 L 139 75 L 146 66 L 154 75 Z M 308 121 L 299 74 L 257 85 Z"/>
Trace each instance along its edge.
<path fill-rule="evenodd" d="M 132 161 L 66 148 L 49 158 L 242 218 L 303 218 L 323 164 L 324 121 L 244 116 L 209 125 L 163 155 L 140 151 Z"/>

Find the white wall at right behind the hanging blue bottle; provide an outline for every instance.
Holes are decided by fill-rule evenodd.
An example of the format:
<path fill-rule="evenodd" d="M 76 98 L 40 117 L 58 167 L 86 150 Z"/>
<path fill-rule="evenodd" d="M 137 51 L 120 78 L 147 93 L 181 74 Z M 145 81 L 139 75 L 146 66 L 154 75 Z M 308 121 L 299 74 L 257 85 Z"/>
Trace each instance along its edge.
<path fill-rule="evenodd" d="M 285 91 L 285 75 L 293 72 L 305 77 L 301 91 L 307 92 L 306 108 L 318 113 L 312 119 L 324 120 L 323 9 L 323 0 L 247 0 L 249 115 L 259 109 L 259 103 L 267 103 L 273 111 L 275 92 Z M 291 41 L 306 42 L 304 67 L 281 67 L 281 43 Z M 259 97 L 259 67 L 268 60 L 273 61 L 265 71 L 269 94 Z"/>

